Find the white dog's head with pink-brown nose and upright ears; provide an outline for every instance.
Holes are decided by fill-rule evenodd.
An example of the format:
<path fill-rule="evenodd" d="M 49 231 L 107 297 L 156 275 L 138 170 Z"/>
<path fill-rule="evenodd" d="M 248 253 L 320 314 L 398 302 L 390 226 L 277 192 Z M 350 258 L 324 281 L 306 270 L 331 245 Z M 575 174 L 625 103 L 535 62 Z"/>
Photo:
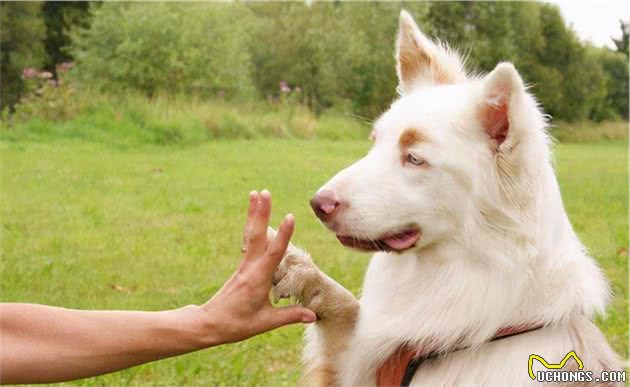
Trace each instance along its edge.
<path fill-rule="evenodd" d="M 401 97 L 375 122 L 369 153 L 318 190 L 315 214 L 346 246 L 395 252 L 514 218 L 526 200 L 526 159 L 547 148 L 542 114 L 514 66 L 469 76 L 405 11 L 397 61 Z"/>

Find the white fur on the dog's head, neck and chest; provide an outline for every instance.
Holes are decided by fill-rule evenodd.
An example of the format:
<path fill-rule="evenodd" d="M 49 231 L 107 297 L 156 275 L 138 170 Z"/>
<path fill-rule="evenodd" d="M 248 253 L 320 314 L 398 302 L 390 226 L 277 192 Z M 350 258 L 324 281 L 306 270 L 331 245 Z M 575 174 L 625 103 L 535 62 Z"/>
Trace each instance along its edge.
<path fill-rule="evenodd" d="M 602 347 L 583 356 L 612 365 L 601 338 L 571 333 L 571 324 L 589 326 L 604 311 L 609 290 L 564 210 L 534 97 L 511 64 L 462 78 L 457 57 L 432 44 L 403 13 L 405 33 L 444 71 L 459 73 L 451 84 L 425 78 L 401 85 L 404 94 L 374 125 L 370 152 L 321 188 L 347 203 L 327 222 L 338 234 L 378 239 L 411 224 L 422 230 L 414 248 L 372 258 L 354 333 L 334 355 L 337 381 L 373 386 L 378 365 L 403 343 L 471 347 L 421 366 L 414 385 L 530 385 L 529 354 L 559 361 L 578 341 L 583 351 Z M 510 126 L 498 145 L 479 111 L 501 98 Z M 427 138 L 410 151 L 428 165 L 401 162 L 398 142 L 409 128 Z M 484 344 L 521 323 L 548 327 Z M 307 359 L 321 353 L 317 330 L 309 333 Z M 598 351 L 609 355 L 595 359 Z"/>

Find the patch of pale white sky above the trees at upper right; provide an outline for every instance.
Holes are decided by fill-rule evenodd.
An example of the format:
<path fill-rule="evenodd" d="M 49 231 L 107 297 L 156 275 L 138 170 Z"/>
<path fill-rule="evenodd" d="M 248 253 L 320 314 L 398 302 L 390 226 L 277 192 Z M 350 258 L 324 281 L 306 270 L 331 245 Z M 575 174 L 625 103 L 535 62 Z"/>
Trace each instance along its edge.
<path fill-rule="evenodd" d="M 614 48 L 610 39 L 621 36 L 619 19 L 630 20 L 630 2 L 627 0 L 549 0 L 557 4 L 568 25 L 573 26 L 582 40 L 596 46 Z"/>

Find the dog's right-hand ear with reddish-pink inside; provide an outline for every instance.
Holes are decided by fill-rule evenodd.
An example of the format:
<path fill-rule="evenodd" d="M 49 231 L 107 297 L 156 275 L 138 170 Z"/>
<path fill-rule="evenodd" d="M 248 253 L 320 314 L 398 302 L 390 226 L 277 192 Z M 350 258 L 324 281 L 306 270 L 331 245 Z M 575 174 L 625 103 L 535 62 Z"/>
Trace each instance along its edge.
<path fill-rule="evenodd" d="M 499 63 L 483 82 L 479 118 L 490 137 L 492 148 L 498 151 L 512 134 L 515 105 L 525 94 L 525 85 L 511 63 Z"/>

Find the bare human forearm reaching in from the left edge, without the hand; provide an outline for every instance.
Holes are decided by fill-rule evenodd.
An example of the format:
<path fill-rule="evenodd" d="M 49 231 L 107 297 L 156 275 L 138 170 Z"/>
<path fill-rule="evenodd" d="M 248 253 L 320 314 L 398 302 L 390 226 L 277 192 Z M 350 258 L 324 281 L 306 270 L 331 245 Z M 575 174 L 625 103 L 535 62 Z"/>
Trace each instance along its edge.
<path fill-rule="evenodd" d="M 100 375 L 221 341 L 195 306 L 162 312 L 0 308 L 2 383 Z"/>

